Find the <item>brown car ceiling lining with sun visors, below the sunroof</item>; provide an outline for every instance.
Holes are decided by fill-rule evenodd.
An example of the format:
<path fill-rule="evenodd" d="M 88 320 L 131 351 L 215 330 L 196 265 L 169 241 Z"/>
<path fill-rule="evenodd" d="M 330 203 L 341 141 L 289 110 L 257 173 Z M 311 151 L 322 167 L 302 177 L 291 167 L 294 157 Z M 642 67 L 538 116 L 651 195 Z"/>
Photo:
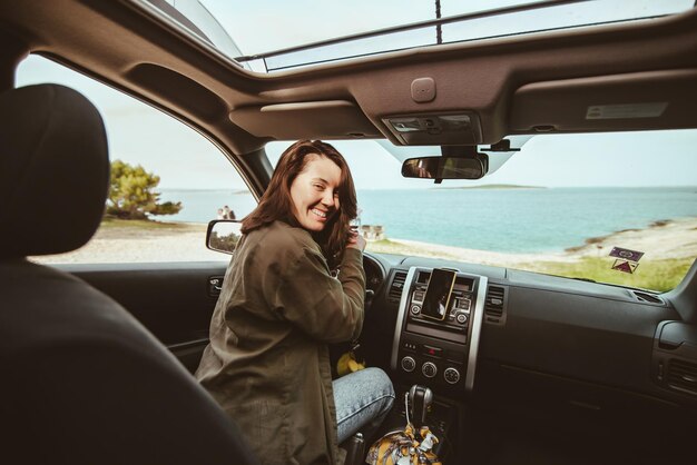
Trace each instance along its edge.
<path fill-rule="evenodd" d="M 243 70 L 126 0 L 2 2 L 0 22 L 2 69 L 28 52 L 56 57 L 165 109 L 240 158 L 276 139 L 401 144 L 383 119 L 404 115 L 470 112 L 481 123 L 478 144 L 513 133 L 697 127 L 697 10 L 273 76 Z M 419 78 L 435 82 L 432 101 L 412 98 Z M 590 106 L 651 102 L 667 102 L 660 117 L 587 118 Z"/>

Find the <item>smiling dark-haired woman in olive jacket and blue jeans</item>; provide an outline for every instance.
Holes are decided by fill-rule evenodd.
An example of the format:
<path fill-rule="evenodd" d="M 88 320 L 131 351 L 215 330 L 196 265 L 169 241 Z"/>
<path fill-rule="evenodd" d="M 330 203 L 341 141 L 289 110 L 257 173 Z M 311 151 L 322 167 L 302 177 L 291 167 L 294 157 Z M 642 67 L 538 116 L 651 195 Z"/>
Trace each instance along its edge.
<path fill-rule="evenodd" d="M 379 424 L 394 400 L 377 368 L 331 379 L 327 344 L 356 338 L 363 325 L 365 240 L 351 233 L 355 216 L 344 158 L 301 140 L 242 222 L 196 377 L 263 464 L 341 463 L 337 444 Z"/>

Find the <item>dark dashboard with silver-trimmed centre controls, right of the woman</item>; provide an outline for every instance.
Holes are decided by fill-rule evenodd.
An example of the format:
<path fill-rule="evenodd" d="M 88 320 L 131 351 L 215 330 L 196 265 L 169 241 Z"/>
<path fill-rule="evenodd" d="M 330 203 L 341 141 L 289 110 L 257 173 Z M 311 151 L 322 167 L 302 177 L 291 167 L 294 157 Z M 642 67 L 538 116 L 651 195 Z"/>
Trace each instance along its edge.
<path fill-rule="evenodd" d="M 375 293 L 363 335 L 369 364 L 401 383 L 454 399 L 513 399 L 518 388 L 537 397 L 549 383 L 563 386 L 563 402 L 603 414 L 697 409 L 697 358 L 686 349 L 697 347 L 697 330 L 665 296 L 484 265 L 364 257 Z M 423 314 L 434 269 L 455 275 L 443 319 Z M 665 326 L 664 339 L 677 342 L 661 344 Z M 668 373 L 675 365 L 687 373 Z M 668 383 L 671 376 L 678 383 Z M 617 393 L 621 407 L 612 405 Z"/>

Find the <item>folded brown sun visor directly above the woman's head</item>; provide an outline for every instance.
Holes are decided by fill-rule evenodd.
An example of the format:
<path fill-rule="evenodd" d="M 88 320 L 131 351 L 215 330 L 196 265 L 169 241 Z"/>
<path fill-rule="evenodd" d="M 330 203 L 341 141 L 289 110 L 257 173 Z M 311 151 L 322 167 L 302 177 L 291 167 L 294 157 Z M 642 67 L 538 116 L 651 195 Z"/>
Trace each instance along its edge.
<path fill-rule="evenodd" d="M 242 107 L 229 118 L 256 137 L 278 140 L 382 137 L 359 106 L 347 100 Z"/>

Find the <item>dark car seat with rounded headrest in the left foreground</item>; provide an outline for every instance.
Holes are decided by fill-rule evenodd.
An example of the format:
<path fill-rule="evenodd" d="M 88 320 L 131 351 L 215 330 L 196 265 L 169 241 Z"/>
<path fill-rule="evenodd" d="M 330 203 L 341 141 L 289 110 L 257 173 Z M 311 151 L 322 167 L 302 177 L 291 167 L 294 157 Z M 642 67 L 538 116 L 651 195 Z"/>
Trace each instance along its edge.
<path fill-rule="evenodd" d="M 115 300 L 27 260 L 87 243 L 104 214 L 97 109 L 56 85 L 0 93 L 2 463 L 254 464 L 215 400 Z"/>

